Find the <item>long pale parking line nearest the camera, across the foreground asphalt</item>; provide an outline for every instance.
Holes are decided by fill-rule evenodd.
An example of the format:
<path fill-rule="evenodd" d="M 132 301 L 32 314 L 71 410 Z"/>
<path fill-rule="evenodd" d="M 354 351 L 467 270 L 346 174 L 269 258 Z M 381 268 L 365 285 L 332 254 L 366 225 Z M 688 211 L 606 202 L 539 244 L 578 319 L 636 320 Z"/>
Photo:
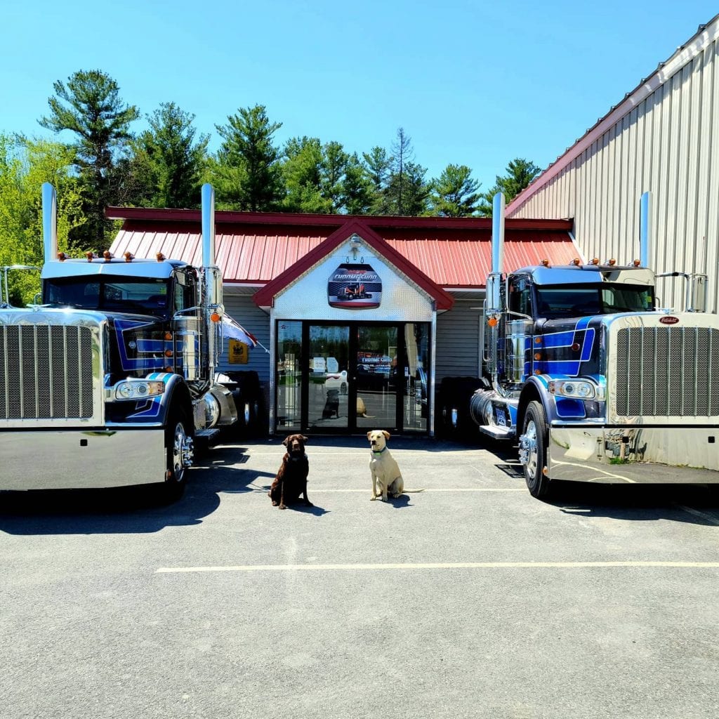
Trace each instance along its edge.
<path fill-rule="evenodd" d="M 238 564 L 227 567 L 159 567 L 156 574 L 188 574 L 193 572 L 360 572 L 383 569 L 610 569 L 676 568 L 719 569 L 719 562 L 426 562 L 413 564 Z"/>

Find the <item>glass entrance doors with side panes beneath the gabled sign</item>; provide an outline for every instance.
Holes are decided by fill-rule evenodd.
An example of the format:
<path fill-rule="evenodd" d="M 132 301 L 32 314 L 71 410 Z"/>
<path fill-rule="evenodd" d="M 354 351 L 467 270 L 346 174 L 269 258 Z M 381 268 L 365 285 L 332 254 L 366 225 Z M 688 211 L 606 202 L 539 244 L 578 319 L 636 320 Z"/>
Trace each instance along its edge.
<path fill-rule="evenodd" d="M 278 430 L 427 431 L 429 324 L 280 321 L 277 349 Z"/>

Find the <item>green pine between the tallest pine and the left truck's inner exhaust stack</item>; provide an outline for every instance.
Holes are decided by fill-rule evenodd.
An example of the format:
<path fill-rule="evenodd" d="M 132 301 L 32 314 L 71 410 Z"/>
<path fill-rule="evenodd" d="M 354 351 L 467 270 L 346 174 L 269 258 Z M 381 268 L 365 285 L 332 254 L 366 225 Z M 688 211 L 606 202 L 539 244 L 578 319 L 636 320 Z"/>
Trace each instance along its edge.
<path fill-rule="evenodd" d="M 161 103 L 147 116 L 150 129 L 130 142 L 129 157 L 116 168 L 116 196 L 145 207 L 200 206 L 209 135 L 195 142 L 195 116 L 175 103 Z"/>

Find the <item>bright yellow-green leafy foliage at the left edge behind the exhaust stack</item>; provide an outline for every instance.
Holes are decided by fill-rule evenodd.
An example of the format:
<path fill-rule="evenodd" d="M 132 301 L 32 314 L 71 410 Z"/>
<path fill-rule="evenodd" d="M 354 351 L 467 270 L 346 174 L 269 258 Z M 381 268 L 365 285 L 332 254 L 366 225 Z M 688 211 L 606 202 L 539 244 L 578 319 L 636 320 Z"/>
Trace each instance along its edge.
<path fill-rule="evenodd" d="M 58 192 L 58 249 L 75 252 L 73 229 L 82 226 L 80 182 L 70 175 L 74 152 L 58 142 L 0 135 L 0 265 L 42 266 L 42 183 Z M 9 275 L 12 303 L 32 301 L 36 273 Z"/>

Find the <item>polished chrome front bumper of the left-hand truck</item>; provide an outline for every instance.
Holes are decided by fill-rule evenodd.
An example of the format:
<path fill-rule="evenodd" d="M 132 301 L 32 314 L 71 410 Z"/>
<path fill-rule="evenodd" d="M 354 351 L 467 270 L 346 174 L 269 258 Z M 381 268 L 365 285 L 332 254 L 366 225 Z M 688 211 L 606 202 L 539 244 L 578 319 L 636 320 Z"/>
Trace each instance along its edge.
<path fill-rule="evenodd" d="M 0 432 L 0 490 L 127 487 L 165 480 L 162 428 Z"/>

